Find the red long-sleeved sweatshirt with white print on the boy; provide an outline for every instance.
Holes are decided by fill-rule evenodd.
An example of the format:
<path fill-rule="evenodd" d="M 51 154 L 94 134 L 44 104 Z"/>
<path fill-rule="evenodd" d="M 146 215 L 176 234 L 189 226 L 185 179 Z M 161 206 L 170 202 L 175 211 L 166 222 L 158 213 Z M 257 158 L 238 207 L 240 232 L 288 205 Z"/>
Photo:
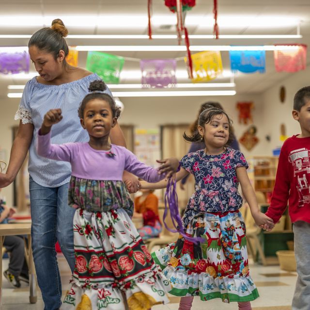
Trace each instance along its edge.
<path fill-rule="evenodd" d="M 296 136 L 285 140 L 279 156 L 276 184 L 266 212 L 275 223 L 285 211 L 287 201 L 293 223 L 310 223 L 310 137 Z"/>

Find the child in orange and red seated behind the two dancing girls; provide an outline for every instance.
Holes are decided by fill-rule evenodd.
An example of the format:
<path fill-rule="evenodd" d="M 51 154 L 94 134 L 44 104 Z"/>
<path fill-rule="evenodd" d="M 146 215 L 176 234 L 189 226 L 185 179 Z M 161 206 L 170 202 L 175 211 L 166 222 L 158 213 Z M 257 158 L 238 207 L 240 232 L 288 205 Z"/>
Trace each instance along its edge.
<path fill-rule="evenodd" d="M 135 198 L 133 217 L 143 218 L 143 227 L 138 229 L 143 240 L 158 237 L 162 230 L 158 217 L 158 198 L 153 189 L 140 189 L 141 196 Z"/>

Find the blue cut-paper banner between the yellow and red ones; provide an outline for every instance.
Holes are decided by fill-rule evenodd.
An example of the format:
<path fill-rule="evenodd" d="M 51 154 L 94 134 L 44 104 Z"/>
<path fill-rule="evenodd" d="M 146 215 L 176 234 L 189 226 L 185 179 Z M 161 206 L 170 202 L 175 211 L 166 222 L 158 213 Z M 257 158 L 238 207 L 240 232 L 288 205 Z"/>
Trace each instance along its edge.
<path fill-rule="evenodd" d="M 231 50 L 229 51 L 232 71 L 244 73 L 260 72 L 265 69 L 265 51 L 264 50 Z"/>

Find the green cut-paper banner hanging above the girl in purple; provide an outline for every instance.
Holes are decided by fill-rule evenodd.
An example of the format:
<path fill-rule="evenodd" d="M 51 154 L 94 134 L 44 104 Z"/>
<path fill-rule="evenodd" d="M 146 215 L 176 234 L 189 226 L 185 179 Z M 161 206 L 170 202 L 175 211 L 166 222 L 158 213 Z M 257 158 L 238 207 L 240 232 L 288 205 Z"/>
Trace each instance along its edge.
<path fill-rule="evenodd" d="M 96 73 L 105 83 L 118 84 L 124 58 L 102 52 L 88 52 L 86 69 Z"/>

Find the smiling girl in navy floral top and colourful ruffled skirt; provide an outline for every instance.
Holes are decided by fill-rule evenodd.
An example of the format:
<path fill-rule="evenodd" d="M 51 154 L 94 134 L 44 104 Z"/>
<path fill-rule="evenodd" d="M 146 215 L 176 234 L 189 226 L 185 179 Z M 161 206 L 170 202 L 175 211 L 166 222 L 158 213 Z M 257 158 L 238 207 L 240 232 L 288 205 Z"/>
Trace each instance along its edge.
<path fill-rule="evenodd" d="M 269 230 L 274 223 L 259 211 L 244 155 L 227 147 L 231 125 L 223 110 L 210 108 L 200 114 L 193 136 L 184 134 L 185 140 L 204 140 L 206 145 L 203 150 L 185 155 L 176 174 L 176 181 L 188 173 L 195 177 L 196 191 L 189 199 L 182 223 L 186 236 L 200 238 L 201 242 L 193 243 L 180 234 L 175 243 L 152 254 L 171 283 L 169 293 L 182 296 L 179 310 L 189 310 L 194 296 L 235 301 L 239 310 L 250 310 L 250 301 L 259 297 L 249 275 L 239 183 L 256 224 L 266 224 Z M 142 182 L 141 186 L 157 189 L 166 184 Z"/>

